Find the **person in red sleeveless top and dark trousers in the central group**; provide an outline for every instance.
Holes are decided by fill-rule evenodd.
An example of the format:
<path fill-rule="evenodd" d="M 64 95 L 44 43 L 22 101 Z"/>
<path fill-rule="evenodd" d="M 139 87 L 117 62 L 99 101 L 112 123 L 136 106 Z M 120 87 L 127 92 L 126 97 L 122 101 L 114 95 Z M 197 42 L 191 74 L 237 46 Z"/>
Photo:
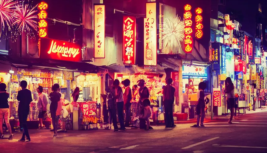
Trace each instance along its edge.
<path fill-rule="evenodd" d="M 130 118 L 131 118 L 132 93 L 131 93 L 131 88 L 129 87 L 130 83 L 131 82 L 129 79 L 125 79 L 123 81 L 123 85 L 125 86 L 125 91 L 123 93 L 124 110 L 126 114 L 125 127 L 130 126 Z"/>

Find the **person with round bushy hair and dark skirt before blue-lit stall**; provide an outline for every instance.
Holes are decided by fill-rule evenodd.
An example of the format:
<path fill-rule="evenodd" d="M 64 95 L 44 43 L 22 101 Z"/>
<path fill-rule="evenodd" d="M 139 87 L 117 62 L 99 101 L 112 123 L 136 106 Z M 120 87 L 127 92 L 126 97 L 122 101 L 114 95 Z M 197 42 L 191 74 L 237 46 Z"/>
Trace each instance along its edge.
<path fill-rule="evenodd" d="M 204 118 L 205 118 L 205 93 L 204 90 L 206 89 L 207 85 L 205 82 L 200 82 L 198 84 L 198 90 L 199 90 L 199 99 L 196 104 L 196 115 L 197 115 L 197 124 L 191 126 L 191 127 L 199 127 L 199 120 L 200 120 L 200 126 L 204 126 Z M 207 100 L 209 101 L 209 100 Z"/>

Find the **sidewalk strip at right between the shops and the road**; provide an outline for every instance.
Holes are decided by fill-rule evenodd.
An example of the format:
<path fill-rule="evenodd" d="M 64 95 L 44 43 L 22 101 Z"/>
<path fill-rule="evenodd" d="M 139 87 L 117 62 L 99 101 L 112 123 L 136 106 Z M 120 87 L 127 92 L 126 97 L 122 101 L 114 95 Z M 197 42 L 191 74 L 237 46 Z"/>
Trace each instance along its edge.
<path fill-rule="evenodd" d="M 253 111 L 253 110 L 246 110 L 246 114 L 252 114 L 252 113 L 260 113 L 260 112 L 266 112 L 267 111 L 267 108 L 266 106 L 263 106 L 262 108 L 256 108 L 256 111 Z M 236 114 L 236 116 L 234 116 L 234 118 L 238 118 L 238 117 L 241 117 L 243 115 L 246 115 L 246 114 L 240 114 L 238 116 L 238 112 Z M 210 117 L 207 117 L 205 118 L 204 120 L 204 123 L 209 123 L 209 122 L 221 122 L 221 121 L 227 121 L 229 120 L 229 117 L 230 115 L 227 115 L 227 116 L 214 116 L 213 117 L 213 120 L 210 119 Z M 193 119 L 189 119 L 189 120 L 186 120 L 186 121 L 174 121 L 174 123 L 176 124 L 185 124 L 185 123 L 196 123 L 197 122 L 197 119 L 196 118 L 193 118 Z"/>

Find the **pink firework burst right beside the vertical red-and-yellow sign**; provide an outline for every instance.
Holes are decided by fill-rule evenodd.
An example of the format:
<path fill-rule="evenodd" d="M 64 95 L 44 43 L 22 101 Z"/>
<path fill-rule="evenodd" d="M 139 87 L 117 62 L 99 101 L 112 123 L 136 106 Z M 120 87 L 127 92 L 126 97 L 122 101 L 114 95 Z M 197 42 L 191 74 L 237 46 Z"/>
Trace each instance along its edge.
<path fill-rule="evenodd" d="M 37 19 L 37 10 L 35 8 L 36 6 L 30 8 L 28 4 L 25 4 L 24 6 L 17 5 L 15 7 L 15 19 L 12 25 L 16 26 L 16 29 L 20 32 L 25 31 L 26 33 L 29 33 L 32 29 L 37 30 L 38 26 L 35 21 L 35 19 Z"/>

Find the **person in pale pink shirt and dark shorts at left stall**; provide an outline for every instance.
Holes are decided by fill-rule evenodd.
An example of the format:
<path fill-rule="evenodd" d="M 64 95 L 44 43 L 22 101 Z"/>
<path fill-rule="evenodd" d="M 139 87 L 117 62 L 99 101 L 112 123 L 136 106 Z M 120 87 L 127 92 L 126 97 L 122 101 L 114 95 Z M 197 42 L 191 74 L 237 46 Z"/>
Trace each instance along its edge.
<path fill-rule="evenodd" d="M 43 125 L 43 118 L 45 118 L 46 115 L 46 106 L 49 103 L 48 100 L 48 95 L 46 93 L 43 92 L 43 87 L 39 86 L 37 88 L 37 93 L 38 93 L 38 109 L 39 109 L 39 114 L 38 114 L 38 118 L 39 118 L 39 122 L 40 122 L 40 127 L 39 128 L 45 128 L 45 126 Z"/>

